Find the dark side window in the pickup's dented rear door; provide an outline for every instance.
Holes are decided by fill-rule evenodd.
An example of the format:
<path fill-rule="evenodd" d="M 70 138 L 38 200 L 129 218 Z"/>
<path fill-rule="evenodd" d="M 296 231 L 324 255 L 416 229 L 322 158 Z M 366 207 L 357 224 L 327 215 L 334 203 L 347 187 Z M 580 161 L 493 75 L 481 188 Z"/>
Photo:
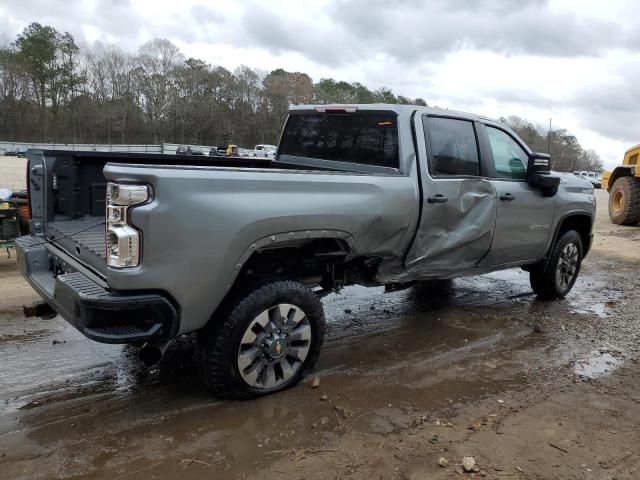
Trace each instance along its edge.
<path fill-rule="evenodd" d="M 479 176 L 478 142 L 468 120 L 427 117 L 425 136 L 431 145 L 431 174 L 435 177 Z"/>

